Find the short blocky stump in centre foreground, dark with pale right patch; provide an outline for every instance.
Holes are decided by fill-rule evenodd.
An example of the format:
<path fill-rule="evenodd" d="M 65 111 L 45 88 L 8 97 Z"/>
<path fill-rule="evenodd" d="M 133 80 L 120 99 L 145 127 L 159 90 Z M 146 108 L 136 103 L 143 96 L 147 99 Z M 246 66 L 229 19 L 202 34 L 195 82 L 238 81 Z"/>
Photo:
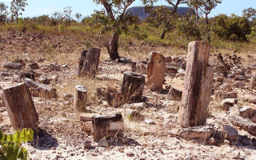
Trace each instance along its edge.
<path fill-rule="evenodd" d="M 122 114 L 94 116 L 92 119 L 94 142 L 102 138 L 116 138 L 122 136 L 124 122 Z"/>

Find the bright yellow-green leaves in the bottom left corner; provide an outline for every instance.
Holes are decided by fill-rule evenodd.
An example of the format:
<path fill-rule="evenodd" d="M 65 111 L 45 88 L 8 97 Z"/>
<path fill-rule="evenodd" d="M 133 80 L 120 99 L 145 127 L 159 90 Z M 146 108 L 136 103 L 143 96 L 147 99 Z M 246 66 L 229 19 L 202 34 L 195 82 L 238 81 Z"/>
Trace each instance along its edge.
<path fill-rule="evenodd" d="M 30 156 L 21 145 L 23 142 L 32 142 L 34 132 L 31 129 L 18 130 L 15 134 L 6 135 L 0 130 L 0 159 L 16 160 L 30 159 Z"/>

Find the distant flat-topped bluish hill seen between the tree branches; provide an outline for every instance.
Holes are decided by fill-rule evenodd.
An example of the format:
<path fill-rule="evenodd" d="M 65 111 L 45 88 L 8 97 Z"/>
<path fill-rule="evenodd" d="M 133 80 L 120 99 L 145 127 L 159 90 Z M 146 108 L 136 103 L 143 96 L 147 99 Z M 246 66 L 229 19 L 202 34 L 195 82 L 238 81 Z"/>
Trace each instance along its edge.
<path fill-rule="evenodd" d="M 174 10 L 173 6 L 166 6 L 170 10 Z M 178 7 L 178 14 L 185 15 L 190 10 L 189 7 Z M 131 13 L 133 15 L 137 15 L 139 19 L 145 20 L 150 14 L 147 14 L 145 11 L 145 6 L 133 6 L 130 7 L 126 13 Z"/>

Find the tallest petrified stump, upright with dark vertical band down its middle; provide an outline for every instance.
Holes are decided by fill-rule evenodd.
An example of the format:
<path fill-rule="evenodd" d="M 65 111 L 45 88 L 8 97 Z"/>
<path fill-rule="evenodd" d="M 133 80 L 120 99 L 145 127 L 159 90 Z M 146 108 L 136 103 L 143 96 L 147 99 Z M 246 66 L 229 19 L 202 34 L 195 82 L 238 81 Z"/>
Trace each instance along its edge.
<path fill-rule="evenodd" d="M 214 68 L 208 64 L 209 57 L 210 45 L 207 42 L 190 42 L 178 113 L 178 123 L 182 127 L 206 124 L 214 79 Z"/>

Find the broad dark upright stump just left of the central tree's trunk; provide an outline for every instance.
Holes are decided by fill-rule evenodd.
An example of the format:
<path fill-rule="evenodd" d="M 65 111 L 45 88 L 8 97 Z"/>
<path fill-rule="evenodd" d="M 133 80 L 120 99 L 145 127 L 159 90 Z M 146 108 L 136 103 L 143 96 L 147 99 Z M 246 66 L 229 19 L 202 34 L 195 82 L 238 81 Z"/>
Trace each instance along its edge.
<path fill-rule="evenodd" d="M 98 70 L 101 49 L 83 50 L 78 64 L 78 75 L 95 77 Z"/>

